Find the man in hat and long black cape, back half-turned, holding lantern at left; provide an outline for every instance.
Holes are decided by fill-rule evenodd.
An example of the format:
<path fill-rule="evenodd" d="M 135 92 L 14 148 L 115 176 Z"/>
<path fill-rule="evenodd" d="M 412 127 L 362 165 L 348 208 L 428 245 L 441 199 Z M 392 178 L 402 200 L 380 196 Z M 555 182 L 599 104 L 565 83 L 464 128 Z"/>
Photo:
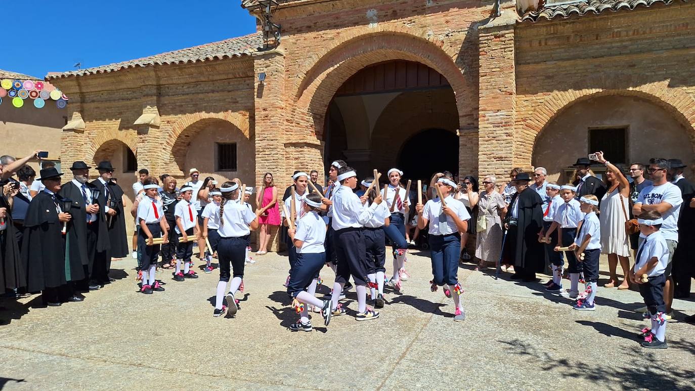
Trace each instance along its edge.
<path fill-rule="evenodd" d="M 67 289 L 70 281 L 83 279 L 82 264 L 77 258 L 65 256 L 69 240 L 63 234 L 63 224 L 71 216 L 64 213 L 68 204 L 60 195 L 60 176 L 55 167 L 42 169 L 39 179 L 46 186 L 29 203 L 24 218 L 22 260 L 26 265 L 28 292 L 42 292 L 48 306 L 60 306 L 61 301 L 82 301 Z"/>

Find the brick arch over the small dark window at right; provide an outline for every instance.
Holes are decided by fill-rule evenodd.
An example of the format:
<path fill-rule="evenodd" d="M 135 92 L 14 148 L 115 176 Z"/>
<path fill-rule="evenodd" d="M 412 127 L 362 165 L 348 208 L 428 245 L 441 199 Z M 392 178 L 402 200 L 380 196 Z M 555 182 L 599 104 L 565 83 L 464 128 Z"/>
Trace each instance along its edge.
<path fill-rule="evenodd" d="M 695 100 L 682 90 L 668 88 L 663 83 L 653 83 L 630 89 L 603 90 L 594 88 L 553 92 L 546 97 L 542 105 L 533 110 L 530 117 L 524 119 L 521 128 L 522 138 L 532 138 L 534 140 L 533 149 L 535 149 L 543 129 L 559 115 L 562 115 L 564 110 L 575 103 L 596 97 L 610 96 L 637 97 L 664 108 L 688 130 L 688 137 L 695 151 Z M 533 149 L 520 151 L 517 163 L 531 167 Z"/>

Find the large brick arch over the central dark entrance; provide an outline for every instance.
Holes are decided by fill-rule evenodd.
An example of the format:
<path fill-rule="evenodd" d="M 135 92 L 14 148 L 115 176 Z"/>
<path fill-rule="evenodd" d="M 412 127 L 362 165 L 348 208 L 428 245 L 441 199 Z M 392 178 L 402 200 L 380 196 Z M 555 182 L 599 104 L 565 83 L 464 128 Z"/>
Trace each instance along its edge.
<path fill-rule="evenodd" d="M 439 40 L 410 32 L 378 29 L 338 42 L 306 72 L 300 73 L 293 113 L 295 126 L 308 126 L 318 138 L 322 138 L 325 114 L 338 88 L 360 69 L 388 60 L 422 63 L 447 78 L 456 94 L 459 124 L 465 126 L 471 120 L 469 114 L 477 98 L 472 94 L 476 90 L 468 85 L 461 69 L 455 64 L 457 54 L 447 53 L 442 46 L 443 42 Z"/>

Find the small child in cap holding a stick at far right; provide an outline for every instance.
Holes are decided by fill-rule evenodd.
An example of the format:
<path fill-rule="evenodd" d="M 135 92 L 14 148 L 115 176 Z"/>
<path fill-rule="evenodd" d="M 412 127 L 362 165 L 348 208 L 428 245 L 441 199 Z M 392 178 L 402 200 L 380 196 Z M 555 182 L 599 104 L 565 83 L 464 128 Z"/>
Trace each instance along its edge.
<path fill-rule="evenodd" d="M 664 271 L 669 264 L 669 247 L 659 231 L 664 220 L 656 210 L 649 210 L 637 217 L 639 232 L 644 241 L 637 250 L 635 267 L 630 269 L 630 281 L 637 284 L 651 318 L 651 328 L 643 328 L 642 346 L 649 349 L 666 349 L 666 303 L 664 302 Z M 646 279 L 645 279 L 646 276 Z"/>

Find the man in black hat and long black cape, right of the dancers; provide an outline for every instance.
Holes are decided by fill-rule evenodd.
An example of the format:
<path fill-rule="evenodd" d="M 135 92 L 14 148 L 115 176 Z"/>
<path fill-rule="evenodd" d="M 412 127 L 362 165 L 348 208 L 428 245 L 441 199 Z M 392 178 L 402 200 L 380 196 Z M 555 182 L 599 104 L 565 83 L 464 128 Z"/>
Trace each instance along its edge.
<path fill-rule="evenodd" d="M 516 194 L 509 203 L 505 216 L 507 237 L 502 249 L 502 263 L 514 265 L 512 278 L 524 282 L 536 281 L 536 273 L 543 272 L 545 251 L 538 241 L 543 228 L 543 200 L 528 187 L 530 176 L 522 172 L 516 175 Z"/>

